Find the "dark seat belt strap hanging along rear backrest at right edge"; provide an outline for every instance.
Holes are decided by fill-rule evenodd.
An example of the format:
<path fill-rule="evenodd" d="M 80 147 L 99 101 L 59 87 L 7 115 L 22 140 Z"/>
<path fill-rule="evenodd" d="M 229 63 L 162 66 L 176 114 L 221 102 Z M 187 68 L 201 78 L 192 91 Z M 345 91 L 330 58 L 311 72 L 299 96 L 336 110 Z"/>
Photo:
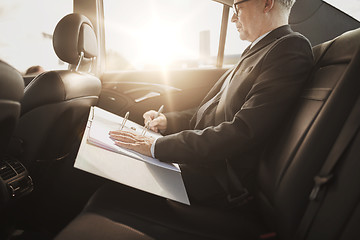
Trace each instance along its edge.
<path fill-rule="evenodd" d="M 309 196 L 309 204 L 296 232 L 295 239 L 305 239 L 313 220 L 320 209 L 325 197 L 325 185 L 333 178 L 333 170 L 341 159 L 347 147 L 359 131 L 360 127 L 360 98 L 354 105 L 348 119 L 346 120 L 339 136 L 337 137 L 327 159 L 325 160 L 319 174 L 315 176 L 315 185 Z"/>

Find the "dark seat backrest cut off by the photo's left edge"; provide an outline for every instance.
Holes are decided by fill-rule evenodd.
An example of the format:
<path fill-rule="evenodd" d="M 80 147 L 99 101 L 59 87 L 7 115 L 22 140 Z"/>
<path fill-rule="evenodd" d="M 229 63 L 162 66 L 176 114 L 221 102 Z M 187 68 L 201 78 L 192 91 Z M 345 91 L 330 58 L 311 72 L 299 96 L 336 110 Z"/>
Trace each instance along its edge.
<path fill-rule="evenodd" d="M 0 60 L 0 155 L 4 153 L 20 116 L 23 95 L 22 76 Z"/>

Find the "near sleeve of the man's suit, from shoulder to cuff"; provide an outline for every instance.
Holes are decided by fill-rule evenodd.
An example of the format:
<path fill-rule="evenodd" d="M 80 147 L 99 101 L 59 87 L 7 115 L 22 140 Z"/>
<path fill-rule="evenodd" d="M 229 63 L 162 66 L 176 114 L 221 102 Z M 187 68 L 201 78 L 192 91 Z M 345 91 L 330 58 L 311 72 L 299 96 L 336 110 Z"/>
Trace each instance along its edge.
<path fill-rule="evenodd" d="M 267 52 L 261 64 L 260 74 L 232 121 L 160 138 L 156 158 L 202 164 L 236 156 L 266 141 L 298 98 L 313 66 L 312 49 L 305 38 L 285 38 Z"/>

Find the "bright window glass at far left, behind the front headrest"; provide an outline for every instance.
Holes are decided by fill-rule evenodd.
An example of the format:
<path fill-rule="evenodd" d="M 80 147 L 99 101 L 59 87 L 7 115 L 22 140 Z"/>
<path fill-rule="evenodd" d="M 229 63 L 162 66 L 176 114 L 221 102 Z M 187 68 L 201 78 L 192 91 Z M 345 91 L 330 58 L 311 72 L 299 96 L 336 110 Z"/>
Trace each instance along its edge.
<path fill-rule="evenodd" d="M 67 68 L 52 47 L 57 22 L 73 10 L 72 0 L 3 0 L 0 5 L 0 58 L 20 72 L 40 65 Z"/>

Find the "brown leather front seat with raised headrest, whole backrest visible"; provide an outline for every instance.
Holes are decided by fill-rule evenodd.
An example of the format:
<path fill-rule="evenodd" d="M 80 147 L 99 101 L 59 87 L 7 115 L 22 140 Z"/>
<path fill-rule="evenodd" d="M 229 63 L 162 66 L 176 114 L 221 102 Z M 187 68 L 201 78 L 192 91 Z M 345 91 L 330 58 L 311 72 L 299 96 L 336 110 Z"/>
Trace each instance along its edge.
<path fill-rule="evenodd" d="M 22 142 L 19 158 L 24 161 L 64 158 L 84 130 L 90 106 L 97 103 L 101 91 L 100 80 L 88 72 L 98 53 L 88 18 L 74 13 L 61 19 L 53 45 L 69 70 L 44 72 L 25 88 L 15 131 Z"/>

